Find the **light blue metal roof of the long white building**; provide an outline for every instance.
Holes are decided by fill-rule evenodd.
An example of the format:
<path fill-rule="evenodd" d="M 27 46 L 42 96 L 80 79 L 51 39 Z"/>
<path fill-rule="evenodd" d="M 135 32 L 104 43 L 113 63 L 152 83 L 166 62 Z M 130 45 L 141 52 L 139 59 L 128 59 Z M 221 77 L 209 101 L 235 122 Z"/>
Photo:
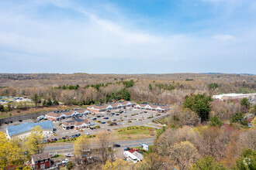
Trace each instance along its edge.
<path fill-rule="evenodd" d="M 25 131 L 30 131 L 33 127 L 40 126 L 42 130 L 44 129 L 53 129 L 54 124 L 52 121 L 42 121 L 37 123 L 24 123 L 24 124 L 18 124 L 16 126 L 8 126 L 6 128 L 7 133 L 9 136 L 20 134 Z"/>

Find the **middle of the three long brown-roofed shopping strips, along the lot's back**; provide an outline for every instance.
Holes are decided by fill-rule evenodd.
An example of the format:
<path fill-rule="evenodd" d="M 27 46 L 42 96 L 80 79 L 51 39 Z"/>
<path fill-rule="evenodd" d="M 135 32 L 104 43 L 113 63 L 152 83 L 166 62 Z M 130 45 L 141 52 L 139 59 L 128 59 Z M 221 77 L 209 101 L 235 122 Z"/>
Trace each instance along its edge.
<path fill-rule="evenodd" d="M 135 104 L 136 103 L 133 101 L 120 101 L 112 104 L 99 104 L 99 105 L 95 104 L 87 107 L 87 109 L 95 113 L 98 113 L 98 112 L 104 112 L 107 110 L 116 110 L 119 108 L 134 107 Z"/>

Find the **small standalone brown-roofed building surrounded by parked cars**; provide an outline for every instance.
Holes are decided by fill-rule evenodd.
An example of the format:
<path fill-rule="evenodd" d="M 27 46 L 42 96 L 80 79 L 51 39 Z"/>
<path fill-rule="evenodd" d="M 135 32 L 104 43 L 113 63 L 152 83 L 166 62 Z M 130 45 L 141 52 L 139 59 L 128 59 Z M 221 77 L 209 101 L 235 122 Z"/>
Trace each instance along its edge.
<path fill-rule="evenodd" d="M 62 128 L 68 129 L 83 129 L 87 128 L 90 124 L 88 123 L 88 119 L 79 119 L 75 118 L 71 121 L 64 121 L 61 126 Z"/>

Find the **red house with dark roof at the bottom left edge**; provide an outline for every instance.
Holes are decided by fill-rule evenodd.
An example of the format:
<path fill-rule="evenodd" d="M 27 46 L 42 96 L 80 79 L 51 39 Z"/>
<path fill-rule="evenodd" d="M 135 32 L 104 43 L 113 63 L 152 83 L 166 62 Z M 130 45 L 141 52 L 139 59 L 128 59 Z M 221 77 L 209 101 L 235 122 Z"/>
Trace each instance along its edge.
<path fill-rule="evenodd" d="M 49 153 L 33 155 L 31 162 L 34 169 L 50 168 L 50 155 Z"/>

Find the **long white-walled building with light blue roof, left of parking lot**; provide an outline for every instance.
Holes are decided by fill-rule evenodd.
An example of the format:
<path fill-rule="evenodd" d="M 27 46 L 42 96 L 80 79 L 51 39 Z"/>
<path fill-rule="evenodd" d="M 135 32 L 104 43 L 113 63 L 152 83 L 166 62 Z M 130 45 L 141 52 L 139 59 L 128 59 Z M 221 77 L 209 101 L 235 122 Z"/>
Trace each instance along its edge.
<path fill-rule="evenodd" d="M 42 121 L 38 123 L 24 123 L 15 126 L 6 127 L 7 138 L 22 138 L 25 139 L 29 136 L 32 128 L 39 126 L 42 128 L 43 134 L 52 134 L 54 130 L 54 124 L 52 121 Z"/>

